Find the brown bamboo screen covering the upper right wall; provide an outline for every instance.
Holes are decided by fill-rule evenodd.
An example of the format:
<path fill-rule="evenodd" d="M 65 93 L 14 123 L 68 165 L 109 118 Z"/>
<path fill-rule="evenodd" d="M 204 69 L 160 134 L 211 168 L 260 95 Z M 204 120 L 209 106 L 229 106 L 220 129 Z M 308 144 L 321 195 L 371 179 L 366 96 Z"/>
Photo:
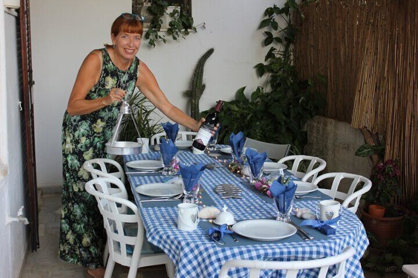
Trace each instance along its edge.
<path fill-rule="evenodd" d="M 295 65 L 319 88 L 323 115 L 385 138 L 401 165 L 401 204 L 418 199 L 418 1 L 318 0 L 303 8 Z M 298 23 L 296 23 L 298 24 Z"/>

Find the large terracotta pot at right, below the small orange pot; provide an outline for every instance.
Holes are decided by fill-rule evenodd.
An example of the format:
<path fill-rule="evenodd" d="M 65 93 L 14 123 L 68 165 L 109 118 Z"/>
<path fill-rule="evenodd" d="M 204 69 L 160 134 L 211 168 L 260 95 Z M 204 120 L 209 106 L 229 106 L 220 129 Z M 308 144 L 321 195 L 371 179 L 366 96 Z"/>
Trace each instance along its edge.
<path fill-rule="evenodd" d="M 368 232 L 376 234 L 379 243 L 385 246 L 388 240 L 393 240 L 402 234 L 402 219 L 409 213 L 408 209 L 397 207 L 402 216 L 377 217 L 371 216 L 364 207 L 360 208 L 361 221 Z"/>

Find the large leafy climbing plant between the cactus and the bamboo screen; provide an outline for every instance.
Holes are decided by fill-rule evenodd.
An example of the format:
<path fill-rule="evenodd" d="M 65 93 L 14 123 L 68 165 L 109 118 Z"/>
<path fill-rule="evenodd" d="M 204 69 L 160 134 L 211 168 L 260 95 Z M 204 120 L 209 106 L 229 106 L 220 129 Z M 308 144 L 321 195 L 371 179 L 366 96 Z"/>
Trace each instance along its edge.
<path fill-rule="evenodd" d="M 293 152 L 303 150 L 307 135 L 303 126 L 318 114 L 325 101 L 314 88 L 314 80 L 301 80 L 293 65 L 292 45 L 297 28 L 291 15 L 303 18 L 295 0 L 287 0 L 282 8 L 274 5 L 265 10 L 259 29 L 264 31 L 264 45 L 271 46 L 264 63 L 255 65 L 258 76 L 268 75 L 265 88 L 258 87 L 249 99 L 244 88 L 235 100 L 224 101 L 220 113 L 220 142 L 227 143 L 231 132 L 271 143 L 292 144 Z M 279 22 L 285 22 L 281 27 Z M 324 82 L 323 76 L 316 81 Z M 206 111 L 202 114 L 205 115 Z"/>

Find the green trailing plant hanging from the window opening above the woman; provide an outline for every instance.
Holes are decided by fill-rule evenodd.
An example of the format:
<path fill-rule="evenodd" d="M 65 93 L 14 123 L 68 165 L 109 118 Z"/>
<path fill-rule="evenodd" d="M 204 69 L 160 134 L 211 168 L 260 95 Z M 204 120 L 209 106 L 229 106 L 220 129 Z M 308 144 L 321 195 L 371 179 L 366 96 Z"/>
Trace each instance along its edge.
<path fill-rule="evenodd" d="M 151 5 L 147 8 L 147 12 L 152 17 L 148 30 L 145 33 L 145 39 L 148 39 L 148 43 L 153 47 L 156 46 L 156 42 L 167 42 L 166 36 L 159 32 L 163 20 L 161 17 L 167 14 L 167 8 L 169 4 L 166 0 L 153 0 Z M 184 8 L 181 6 L 176 7 L 170 14 L 171 21 L 169 22 L 169 28 L 167 33 L 172 36 L 174 40 L 181 37 L 185 39 L 192 31 L 197 31 L 193 26 L 193 17 L 191 17 Z"/>

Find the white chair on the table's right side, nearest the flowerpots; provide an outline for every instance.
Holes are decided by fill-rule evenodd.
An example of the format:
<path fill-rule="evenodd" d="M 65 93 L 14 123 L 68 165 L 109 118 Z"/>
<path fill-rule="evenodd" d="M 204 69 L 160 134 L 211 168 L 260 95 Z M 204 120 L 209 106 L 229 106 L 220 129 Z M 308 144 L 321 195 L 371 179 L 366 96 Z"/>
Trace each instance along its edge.
<path fill-rule="evenodd" d="M 354 214 L 357 212 L 361 195 L 372 188 L 372 182 L 369 179 L 360 175 L 341 172 L 320 175 L 314 180 L 313 184 L 318 185 L 321 181 L 327 179 L 332 179 L 331 188 L 319 188 L 318 190 L 333 199 L 342 200 L 342 206 L 348 208 Z M 342 187 L 348 187 L 348 190 L 343 191 Z"/>

